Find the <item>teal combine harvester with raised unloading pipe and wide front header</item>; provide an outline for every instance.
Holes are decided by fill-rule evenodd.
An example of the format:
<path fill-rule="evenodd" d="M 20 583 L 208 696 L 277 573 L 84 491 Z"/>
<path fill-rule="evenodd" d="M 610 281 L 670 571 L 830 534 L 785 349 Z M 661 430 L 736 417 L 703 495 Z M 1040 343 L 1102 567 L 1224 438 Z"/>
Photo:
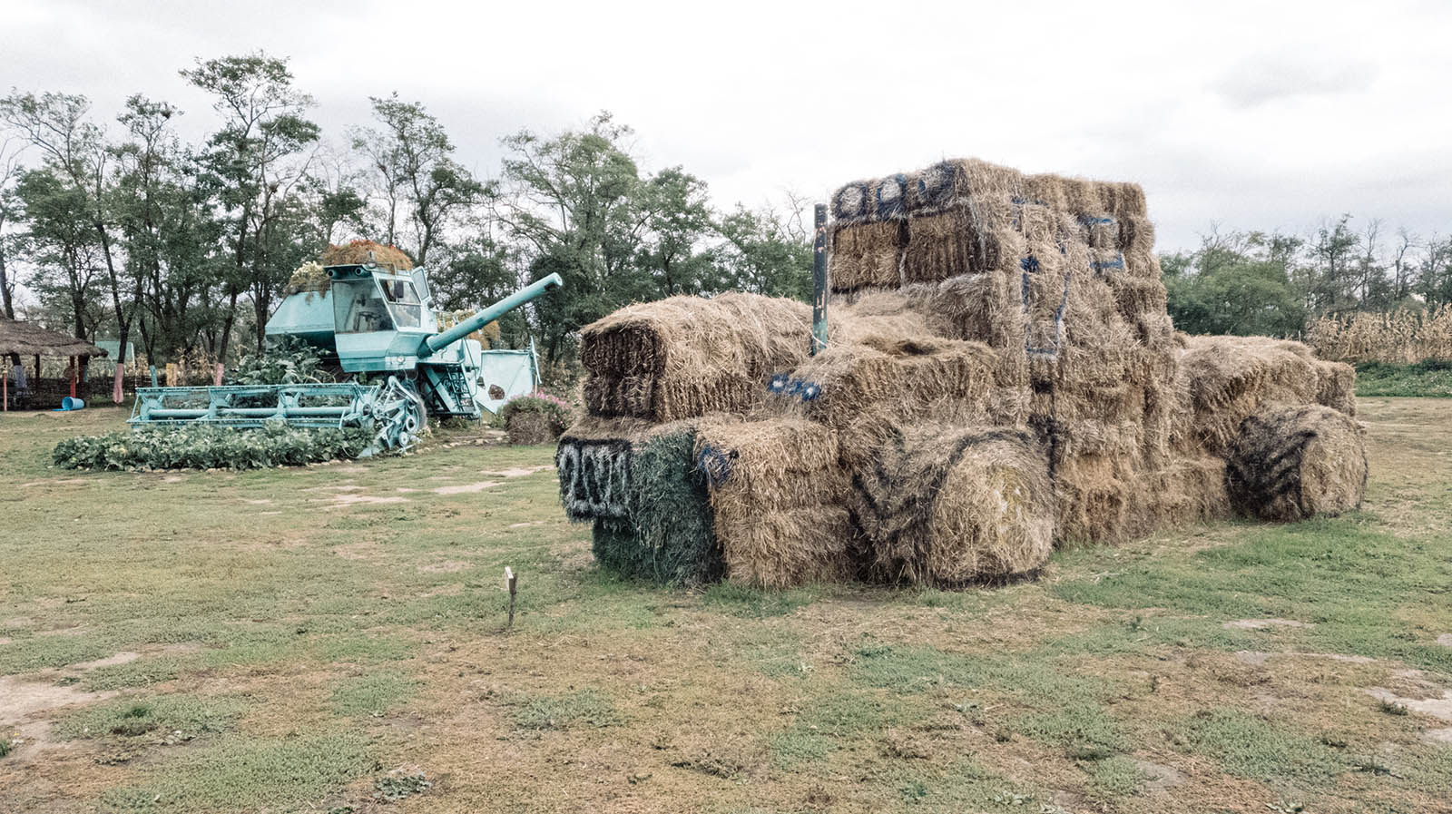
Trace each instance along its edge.
<path fill-rule="evenodd" d="M 373 432 L 364 454 L 407 450 L 430 415 L 479 418 L 484 351 L 465 337 L 563 284 L 550 274 L 440 331 L 423 268 L 364 263 L 328 266 L 327 274 L 325 286 L 289 295 L 266 331 L 317 347 L 357 382 L 139 387 L 129 424 L 364 427 Z"/>

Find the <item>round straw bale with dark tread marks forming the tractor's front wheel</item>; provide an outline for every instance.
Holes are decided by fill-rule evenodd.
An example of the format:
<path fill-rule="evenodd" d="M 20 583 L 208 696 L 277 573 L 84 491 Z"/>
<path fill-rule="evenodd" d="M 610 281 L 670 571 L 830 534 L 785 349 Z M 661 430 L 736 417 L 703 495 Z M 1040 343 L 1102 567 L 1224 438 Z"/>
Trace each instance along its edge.
<path fill-rule="evenodd" d="M 961 588 L 1032 573 L 1053 550 L 1048 466 L 1027 432 L 897 428 L 852 486 L 876 579 Z"/>

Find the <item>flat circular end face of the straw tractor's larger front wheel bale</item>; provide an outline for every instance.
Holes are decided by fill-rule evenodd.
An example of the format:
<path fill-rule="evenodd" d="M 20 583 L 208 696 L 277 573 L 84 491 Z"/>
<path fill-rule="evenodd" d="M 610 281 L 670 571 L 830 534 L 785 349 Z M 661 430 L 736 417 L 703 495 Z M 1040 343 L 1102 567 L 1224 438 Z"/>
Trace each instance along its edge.
<path fill-rule="evenodd" d="M 1054 548 L 1047 460 L 1016 441 L 968 447 L 928 521 L 928 582 L 955 586 L 1037 570 Z"/>

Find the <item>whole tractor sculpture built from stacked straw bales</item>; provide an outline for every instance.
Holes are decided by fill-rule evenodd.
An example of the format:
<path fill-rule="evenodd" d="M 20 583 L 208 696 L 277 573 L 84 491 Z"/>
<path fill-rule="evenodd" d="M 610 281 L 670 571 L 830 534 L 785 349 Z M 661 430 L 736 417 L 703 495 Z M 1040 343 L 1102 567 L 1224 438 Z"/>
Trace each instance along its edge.
<path fill-rule="evenodd" d="M 1138 186 L 945 161 L 832 215 L 816 355 L 807 305 L 745 293 L 584 329 L 556 464 L 603 566 L 960 588 L 1066 541 L 1361 503 L 1353 370 L 1176 332 Z"/>

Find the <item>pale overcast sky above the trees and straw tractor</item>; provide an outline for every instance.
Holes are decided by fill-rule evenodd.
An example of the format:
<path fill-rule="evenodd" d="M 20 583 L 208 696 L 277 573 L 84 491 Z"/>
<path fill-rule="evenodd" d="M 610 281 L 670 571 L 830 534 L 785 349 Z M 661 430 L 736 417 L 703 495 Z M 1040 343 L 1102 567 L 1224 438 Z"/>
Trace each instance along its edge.
<path fill-rule="evenodd" d="M 177 70 L 264 49 L 334 139 L 396 90 L 481 176 L 501 136 L 608 109 L 719 206 L 979 157 L 1141 183 L 1162 250 L 1342 212 L 1452 232 L 1452 3 L 1191 6 L 0 0 L 0 87 L 105 119 L 142 91 L 199 136 Z"/>

